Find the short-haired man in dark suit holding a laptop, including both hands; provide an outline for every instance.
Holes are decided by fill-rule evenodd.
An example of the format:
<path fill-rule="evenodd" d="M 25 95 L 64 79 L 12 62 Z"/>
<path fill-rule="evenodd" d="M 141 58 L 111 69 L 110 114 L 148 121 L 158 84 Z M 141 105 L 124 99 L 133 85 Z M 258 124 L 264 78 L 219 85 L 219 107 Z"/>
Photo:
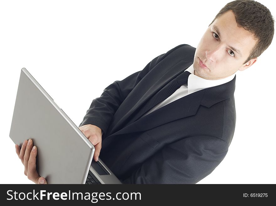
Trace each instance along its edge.
<path fill-rule="evenodd" d="M 191 184 L 209 175 L 234 135 L 236 71 L 252 66 L 273 34 L 265 6 L 233 1 L 196 49 L 178 45 L 110 84 L 79 126 L 95 146 L 95 161 L 100 156 L 123 183 Z M 25 175 L 46 183 L 35 168 L 32 140 L 15 147 Z"/>

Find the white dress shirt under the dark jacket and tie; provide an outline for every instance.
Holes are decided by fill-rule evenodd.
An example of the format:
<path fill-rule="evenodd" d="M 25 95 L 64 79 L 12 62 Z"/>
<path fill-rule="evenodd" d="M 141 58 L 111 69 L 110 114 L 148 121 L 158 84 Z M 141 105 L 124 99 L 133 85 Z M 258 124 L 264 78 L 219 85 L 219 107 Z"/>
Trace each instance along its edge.
<path fill-rule="evenodd" d="M 220 84 L 224 84 L 226 82 L 231 81 L 235 74 L 232 74 L 229 77 L 223 78 L 223 79 L 217 79 L 217 80 L 210 80 L 210 79 L 204 79 L 201 77 L 198 77 L 194 74 L 194 67 L 193 64 L 189 66 L 185 71 L 189 71 L 191 74 L 188 77 L 188 84 L 183 84 L 180 88 L 178 88 L 171 96 L 169 96 L 167 99 L 163 100 L 162 102 L 155 105 L 153 108 L 151 108 L 148 112 L 146 112 L 143 116 L 150 114 L 151 112 L 179 99 L 182 97 L 185 97 L 186 95 L 189 95 L 193 92 L 197 92 L 201 89 L 205 89 L 208 87 L 215 87 Z M 143 117 L 141 116 L 141 117 Z"/>

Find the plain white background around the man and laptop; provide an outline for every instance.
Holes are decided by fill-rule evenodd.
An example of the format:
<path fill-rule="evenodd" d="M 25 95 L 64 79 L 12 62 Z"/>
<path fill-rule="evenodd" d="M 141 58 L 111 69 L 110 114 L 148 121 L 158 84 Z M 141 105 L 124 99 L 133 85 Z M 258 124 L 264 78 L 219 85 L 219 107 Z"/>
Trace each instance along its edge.
<path fill-rule="evenodd" d="M 33 183 L 9 138 L 22 67 L 78 126 L 115 80 L 177 45 L 197 47 L 228 2 L 1 1 L 0 183 Z M 273 1 L 259 2 L 276 17 Z M 275 38 L 253 66 L 237 71 L 233 140 L 220 165 L 198 183 L 276 183 Z"/>

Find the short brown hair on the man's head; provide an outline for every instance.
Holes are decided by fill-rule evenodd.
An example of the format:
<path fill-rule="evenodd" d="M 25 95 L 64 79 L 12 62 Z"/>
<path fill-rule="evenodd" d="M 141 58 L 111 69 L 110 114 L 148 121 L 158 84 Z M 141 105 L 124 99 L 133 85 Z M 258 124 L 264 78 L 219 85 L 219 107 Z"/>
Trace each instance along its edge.
<path fill-rule="evenodd" d="M 269 9 L 263 4 L 252 0 L 236 0 L 227 3 L 215 16 L 212 23 L 229 10 L 235 14 L 238 26 L 253 33 L 257 40 L 247 60 L 243 63 L 245 64 L 261 55 L 271 44 L 274 35 L 274 19 Z"/>

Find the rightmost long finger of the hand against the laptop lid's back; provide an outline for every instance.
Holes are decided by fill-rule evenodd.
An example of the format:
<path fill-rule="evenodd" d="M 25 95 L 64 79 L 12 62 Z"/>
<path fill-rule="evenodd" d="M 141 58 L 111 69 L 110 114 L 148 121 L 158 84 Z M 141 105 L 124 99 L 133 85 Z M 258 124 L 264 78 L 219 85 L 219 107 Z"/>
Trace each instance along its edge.
<path fill-rule="evenodd" d="M 36 170 L 36 155 L 37 155 L 37 148 L 36 146 L 33 146 L 30 152 L 29 161 L 27 163 L 27 167 L 28 167 L 27 176 L 28 176 L 28 179 L 33 181 L 35 184 L 39 184 L 38 179 L 40 178 L 40 176 Z"/>

